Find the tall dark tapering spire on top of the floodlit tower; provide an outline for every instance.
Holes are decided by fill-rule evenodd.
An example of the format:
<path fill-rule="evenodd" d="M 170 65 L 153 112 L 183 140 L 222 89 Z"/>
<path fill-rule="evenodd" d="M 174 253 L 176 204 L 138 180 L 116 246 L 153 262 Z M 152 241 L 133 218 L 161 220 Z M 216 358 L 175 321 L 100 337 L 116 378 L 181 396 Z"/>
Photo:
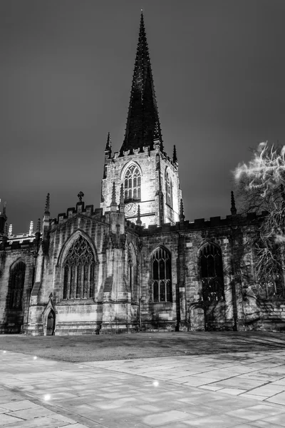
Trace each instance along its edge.
<path fill-rule="evenodd" d="M 127 126 L 120 153 L 128 150 L 132 153 L 134 148 L 142 150 L 143 146 L 150 146 L 150 150 L 152 150 L 154 138 L 160 142 L 160 147 L 163 150 L 145 23 L 141 13 Z"/>

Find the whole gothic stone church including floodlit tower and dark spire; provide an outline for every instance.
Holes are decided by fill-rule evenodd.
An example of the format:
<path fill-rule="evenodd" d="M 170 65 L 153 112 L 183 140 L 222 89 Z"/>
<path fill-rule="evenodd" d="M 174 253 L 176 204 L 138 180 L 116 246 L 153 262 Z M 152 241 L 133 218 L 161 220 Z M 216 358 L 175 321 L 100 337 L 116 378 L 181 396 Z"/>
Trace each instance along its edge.
<path fill-rule="evenodd" d="M 165 152 L 140 18 L 125 137 L 105 145 L 100 208 L 76 207 L 13 235 L 0 214 L 0 332 L 285 330 L 284 278 L 266 286 L 245 248 L 264 213 L 185 220 L 174 146 Z M 99 201 L 98 201 L 99 202 Z"/>

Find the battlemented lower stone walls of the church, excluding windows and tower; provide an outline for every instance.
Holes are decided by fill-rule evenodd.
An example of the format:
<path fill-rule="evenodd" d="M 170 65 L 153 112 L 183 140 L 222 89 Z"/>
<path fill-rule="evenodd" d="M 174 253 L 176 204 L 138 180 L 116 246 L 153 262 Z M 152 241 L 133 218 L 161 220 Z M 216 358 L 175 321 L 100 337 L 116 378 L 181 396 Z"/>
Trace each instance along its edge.
<path fill-rule="evenodd" d="M 125 221 L 123 211 L 112 209 L 103 215 L 102 210 L 78 203 L 57 220 L 45 218 L 48 226 L 41 242 L 2 245 L 0 332 L 44 335 L 49 310 L 55 313 L 56 335 L 284 329 L 285 300 L 260 297 L 254 253 L 244 245 L 257 223 L 228 216 L 143 228 Z M 64 260 L 80 235 L 94 251 L 95 288 L 88 298 L 63 299 Z M 199 258 L 207 243 L 222 252 L 224 279 L 222 298 L 209 301 L 202 293 Z M 152 254 L 157 248 L 171 255 L 170 301 L 153 298 Z M 17 260 L 26 263 L 26 275 L 22 310 L 16 313 L 7 309 L 7 302 L 10 270 Z"/>

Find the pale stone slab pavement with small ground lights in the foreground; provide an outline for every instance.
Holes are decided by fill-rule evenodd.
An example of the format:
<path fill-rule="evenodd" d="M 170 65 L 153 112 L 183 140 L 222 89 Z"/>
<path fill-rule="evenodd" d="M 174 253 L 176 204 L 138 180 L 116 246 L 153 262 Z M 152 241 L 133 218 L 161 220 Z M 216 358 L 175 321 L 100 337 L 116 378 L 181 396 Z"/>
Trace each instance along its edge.
<path fill-rule="evenodd" d="M 285 427 L 285 350 L 0 362 L 0 427 Z"/>

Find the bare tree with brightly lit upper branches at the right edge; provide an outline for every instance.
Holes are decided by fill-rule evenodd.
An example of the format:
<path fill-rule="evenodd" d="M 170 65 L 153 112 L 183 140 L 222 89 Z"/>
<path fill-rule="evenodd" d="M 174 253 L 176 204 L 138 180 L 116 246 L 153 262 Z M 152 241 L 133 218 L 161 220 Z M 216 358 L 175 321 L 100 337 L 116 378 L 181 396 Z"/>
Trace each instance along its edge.
<path fill-rule="evenodd" d="M 252 160 L 234 170 L 234 178 L 242 213 L 263 214 L 247 242 L 255 252 L 257 280 L 271 295 L 283 295 L 285 146 L 260 143 Z"/>

